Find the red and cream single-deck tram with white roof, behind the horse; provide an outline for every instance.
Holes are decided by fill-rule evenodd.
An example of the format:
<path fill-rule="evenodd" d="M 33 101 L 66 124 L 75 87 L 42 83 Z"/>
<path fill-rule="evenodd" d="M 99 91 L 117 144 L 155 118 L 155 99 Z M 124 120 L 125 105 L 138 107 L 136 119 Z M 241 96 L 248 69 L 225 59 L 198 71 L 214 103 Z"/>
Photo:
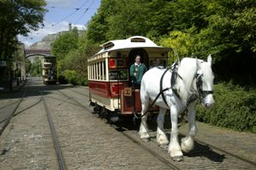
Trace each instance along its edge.
<path fill-rule="evenodd" d="M 133 88 L 129 67 L 139 55 L 148 70 L 154 66 L 165 68 L 171 49 L 140 36 L 105 42 L 100 47 L 99 53 L 88 58 L 88 88 L 94 111 L 116 121 L 119 116 L 140 114 L 139 89 Z"/>

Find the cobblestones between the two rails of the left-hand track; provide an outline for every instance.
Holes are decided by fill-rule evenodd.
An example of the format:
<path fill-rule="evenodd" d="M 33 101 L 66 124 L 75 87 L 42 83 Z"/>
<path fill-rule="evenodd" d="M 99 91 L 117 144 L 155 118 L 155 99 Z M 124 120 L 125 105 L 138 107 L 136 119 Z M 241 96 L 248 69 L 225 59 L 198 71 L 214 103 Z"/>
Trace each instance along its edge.
<path fill-rule="evenodd" d="M 0 137 L 1 169 L 59 169 L 43 103 L 34 105 L 38 100 L 36 89 L 30 88 L 16 111 L 22 112 Z"/>

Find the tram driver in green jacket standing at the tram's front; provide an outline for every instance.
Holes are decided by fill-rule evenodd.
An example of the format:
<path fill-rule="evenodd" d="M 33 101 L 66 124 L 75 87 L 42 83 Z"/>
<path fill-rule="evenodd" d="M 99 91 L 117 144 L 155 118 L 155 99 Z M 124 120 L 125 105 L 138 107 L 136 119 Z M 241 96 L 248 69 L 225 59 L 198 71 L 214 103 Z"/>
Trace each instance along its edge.
<path fill-rule="evenodd" d="M 135 88 L 140 87 L 140 82 L 143 75 L 145 74 L 145 71 L 147 71 L 145 64 L 141 63 L 140 56 L 136 55 L 135 62 L 130 67 L 130 77 L 132 77 L 132 83 Z"/>

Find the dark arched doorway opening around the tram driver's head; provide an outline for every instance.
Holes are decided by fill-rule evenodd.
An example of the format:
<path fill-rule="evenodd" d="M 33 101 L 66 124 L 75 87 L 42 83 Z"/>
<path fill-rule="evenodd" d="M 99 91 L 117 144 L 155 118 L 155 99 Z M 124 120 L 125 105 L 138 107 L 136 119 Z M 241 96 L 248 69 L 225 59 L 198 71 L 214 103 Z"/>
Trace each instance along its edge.
<path fill-rule="evenodd" d="M 145 49 L 143 48 L 134 48 L 130 51 L 130 53 L 128 54 L 128 63 L 129 66 L 134 64 L 134 59 L 135 56 L 139 55 L 140 56 L 140 62 L 144 63 L 146 68 L 149 70 L 149 56 L 146 53 Z"/>

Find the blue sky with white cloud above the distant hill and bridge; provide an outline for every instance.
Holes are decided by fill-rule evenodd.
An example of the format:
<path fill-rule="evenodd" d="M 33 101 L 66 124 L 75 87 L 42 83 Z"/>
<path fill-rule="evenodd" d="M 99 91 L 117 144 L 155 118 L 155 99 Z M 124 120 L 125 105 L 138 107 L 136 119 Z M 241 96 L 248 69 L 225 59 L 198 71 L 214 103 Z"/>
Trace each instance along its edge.
<path fill-rule="evenodd" d="M 97 13 L 100 0 L 46 0 L 48 12 L 44 16 L 43 28 L 31 31 L 28 37 L 18 36 L 20 42 L 28 48 L 48 34 L 67 31 L 68 24 L 84 30 L 91 17 Z M 79 9 L 78 9 L 79 8 Z"/>

